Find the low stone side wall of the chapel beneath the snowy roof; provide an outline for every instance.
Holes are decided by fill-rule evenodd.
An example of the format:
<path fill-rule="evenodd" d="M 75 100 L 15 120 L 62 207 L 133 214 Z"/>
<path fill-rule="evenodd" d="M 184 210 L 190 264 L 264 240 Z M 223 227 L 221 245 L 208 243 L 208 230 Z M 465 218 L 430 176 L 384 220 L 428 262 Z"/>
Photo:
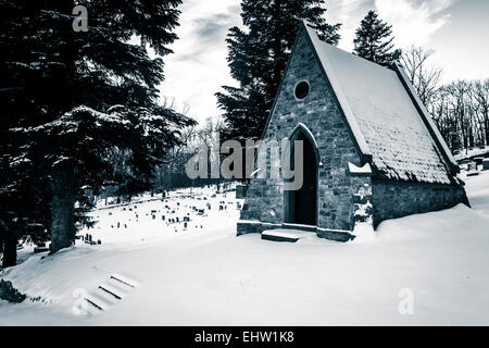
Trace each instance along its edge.
<path fill-rule="evenodd" d="M 373 179 L 374 226 L 387 219 L 468 206 L 463 186 Z"/>

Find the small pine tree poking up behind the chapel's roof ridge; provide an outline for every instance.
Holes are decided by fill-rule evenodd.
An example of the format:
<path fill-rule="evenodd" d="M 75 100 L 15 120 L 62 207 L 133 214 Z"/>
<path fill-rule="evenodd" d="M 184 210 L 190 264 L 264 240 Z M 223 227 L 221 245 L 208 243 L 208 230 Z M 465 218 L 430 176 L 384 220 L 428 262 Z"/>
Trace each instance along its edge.
<path fill-rule="evenodd" d="M 389 66 L 393 58 L 392 26 L 378 18 L 375 11 L 368 11 L 356 29 L 353 53 L 374 63 Z"/>

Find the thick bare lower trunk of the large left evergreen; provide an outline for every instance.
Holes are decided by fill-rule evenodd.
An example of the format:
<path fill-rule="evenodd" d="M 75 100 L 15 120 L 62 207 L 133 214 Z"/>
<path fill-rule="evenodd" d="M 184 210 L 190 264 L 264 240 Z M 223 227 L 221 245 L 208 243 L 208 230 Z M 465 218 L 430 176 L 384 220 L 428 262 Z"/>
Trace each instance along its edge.
<path fill-rule="evenodd" d="M 75 171 L 59 169 L 52 182 L 51 253 L 75 241 Z"/>

